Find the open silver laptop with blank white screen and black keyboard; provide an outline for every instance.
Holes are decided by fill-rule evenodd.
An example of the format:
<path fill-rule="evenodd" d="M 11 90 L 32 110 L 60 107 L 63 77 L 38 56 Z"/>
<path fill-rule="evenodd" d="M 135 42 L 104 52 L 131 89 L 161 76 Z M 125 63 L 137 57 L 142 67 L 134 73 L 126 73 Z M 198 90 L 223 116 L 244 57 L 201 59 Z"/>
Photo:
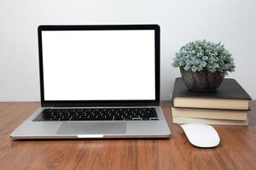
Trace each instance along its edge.
<path fill-rule="evenodd" d="M 38 49 L 41 108 L 10 138 L 170 136 L 160 108 L 160 26 L 38 26 Z"/>

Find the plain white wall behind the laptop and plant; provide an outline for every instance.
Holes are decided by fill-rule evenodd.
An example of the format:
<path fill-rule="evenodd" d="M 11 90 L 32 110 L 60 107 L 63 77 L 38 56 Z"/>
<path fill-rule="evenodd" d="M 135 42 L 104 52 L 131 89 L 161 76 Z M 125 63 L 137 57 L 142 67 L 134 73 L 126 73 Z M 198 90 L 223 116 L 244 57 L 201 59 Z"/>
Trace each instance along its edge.
<path fill-rule="evenodd" d="M 224 42 L 234 77 L 256 99 L 255 0 L 1 0 L 0 101 L 39 100 L 38 25 L 161 27 L 161 99 L 172 98 L 172 57 L 195 39 Z"/>

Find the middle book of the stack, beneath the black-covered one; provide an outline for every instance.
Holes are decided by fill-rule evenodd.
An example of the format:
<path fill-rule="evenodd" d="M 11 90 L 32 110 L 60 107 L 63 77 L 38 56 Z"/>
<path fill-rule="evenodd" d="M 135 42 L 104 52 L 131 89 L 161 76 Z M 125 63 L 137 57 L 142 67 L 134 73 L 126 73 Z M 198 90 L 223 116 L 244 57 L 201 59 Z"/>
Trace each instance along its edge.
<path fill-rule="evenodd" d="M 189 109 L 172 107 L 172 116 L 246 121 L 248 111 Z"/>

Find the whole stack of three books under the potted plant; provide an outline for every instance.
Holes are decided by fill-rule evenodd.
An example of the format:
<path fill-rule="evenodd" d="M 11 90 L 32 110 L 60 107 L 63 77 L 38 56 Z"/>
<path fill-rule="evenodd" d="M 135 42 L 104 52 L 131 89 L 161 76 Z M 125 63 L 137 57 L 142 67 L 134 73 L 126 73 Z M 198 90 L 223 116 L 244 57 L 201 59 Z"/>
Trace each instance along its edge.
<path fill-rule="evenodd" d="M 178 77 L 172 94 L 172 122 L 219 125 L 247 125 L 247 92 L 236 80 L 224 79 L 214 93 L 191 92 Z"/>

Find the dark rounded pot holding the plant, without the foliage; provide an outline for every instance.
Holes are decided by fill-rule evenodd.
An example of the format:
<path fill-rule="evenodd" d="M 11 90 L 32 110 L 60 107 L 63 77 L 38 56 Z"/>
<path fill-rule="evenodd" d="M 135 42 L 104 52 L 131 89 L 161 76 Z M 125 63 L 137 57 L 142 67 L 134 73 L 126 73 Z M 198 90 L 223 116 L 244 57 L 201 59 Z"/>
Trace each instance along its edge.
<path fill-rule="evenodd" d="M 214 92 L 224 80 L 224 73 L 203 71 L 185 71 L 180 67 L 183 81 L 187 88 L 195 92 Z"/>

